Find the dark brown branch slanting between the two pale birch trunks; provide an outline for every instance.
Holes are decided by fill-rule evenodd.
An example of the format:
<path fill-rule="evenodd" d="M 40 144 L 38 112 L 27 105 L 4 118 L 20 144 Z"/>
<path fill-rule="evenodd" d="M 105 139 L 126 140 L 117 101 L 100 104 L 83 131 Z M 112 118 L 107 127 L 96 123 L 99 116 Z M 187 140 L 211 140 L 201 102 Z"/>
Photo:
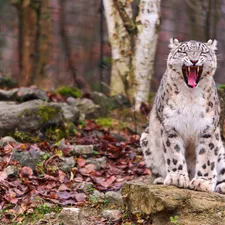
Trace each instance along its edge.
<path fill-rule="evenodd" d="M 130 18 L 130 16 L 127 14 L 125 10 L 126 6 L 123 5 L 123 3 L 120 0 L 113 0 L 113 3 L 119 12 L 119 15 L 124 23 L 124 27 L 127 30 L 127 32 L 132 36 L 136 35 L 137 26 L 135 22 L 132 20 L 132 18 Z"/>

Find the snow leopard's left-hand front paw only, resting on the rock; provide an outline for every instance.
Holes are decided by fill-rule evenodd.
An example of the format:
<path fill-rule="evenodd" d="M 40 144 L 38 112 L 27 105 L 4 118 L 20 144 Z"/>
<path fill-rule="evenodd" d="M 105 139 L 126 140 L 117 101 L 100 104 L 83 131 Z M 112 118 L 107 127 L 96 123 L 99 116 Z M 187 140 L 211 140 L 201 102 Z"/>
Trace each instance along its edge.
<path fill-rule="evenodd" d="M 165 185 L 173 185 L 176 187 L 188 188 L 189 186 L 189 177 L 187 174 L 182 173 L 168 173 L 165 180 Z"/>

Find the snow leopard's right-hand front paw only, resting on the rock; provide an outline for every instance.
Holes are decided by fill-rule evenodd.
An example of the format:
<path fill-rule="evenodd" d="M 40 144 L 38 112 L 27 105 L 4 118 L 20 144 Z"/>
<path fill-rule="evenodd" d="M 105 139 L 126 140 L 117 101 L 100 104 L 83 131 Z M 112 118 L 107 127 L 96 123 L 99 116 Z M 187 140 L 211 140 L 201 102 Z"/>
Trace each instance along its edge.
<path fill-rule="evenodd" d="M 215 186 L 214 180 L 207 180 L 201 177 L 194 177 L 189 185 L 192 190 L 208 192 L 214 192 Z"/>

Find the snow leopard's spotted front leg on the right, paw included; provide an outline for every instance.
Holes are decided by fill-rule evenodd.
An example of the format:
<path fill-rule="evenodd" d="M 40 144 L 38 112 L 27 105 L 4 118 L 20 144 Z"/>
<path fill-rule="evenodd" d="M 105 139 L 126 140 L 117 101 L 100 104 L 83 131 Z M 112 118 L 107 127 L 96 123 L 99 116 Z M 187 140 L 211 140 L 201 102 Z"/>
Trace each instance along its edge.
<path fill-rule="evenodd" d="M 201 135 L 196 151 L 195 176 L 190 182 L 190 188 L 213 192 L 217 181 L 216 163 L 218 155 L 215 132 L 207 132 Z"/>

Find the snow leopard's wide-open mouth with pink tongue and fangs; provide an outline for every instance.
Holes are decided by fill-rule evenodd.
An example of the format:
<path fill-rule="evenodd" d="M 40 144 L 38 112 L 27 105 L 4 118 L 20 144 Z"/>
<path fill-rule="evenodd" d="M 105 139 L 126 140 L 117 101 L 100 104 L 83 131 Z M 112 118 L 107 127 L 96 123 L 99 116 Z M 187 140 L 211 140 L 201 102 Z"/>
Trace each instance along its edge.
<path fill-rule="evenodd" d="M 188 87 L 195 88 L 200 80 L 203 66 L 182 66 L 184 80 Z"/>

